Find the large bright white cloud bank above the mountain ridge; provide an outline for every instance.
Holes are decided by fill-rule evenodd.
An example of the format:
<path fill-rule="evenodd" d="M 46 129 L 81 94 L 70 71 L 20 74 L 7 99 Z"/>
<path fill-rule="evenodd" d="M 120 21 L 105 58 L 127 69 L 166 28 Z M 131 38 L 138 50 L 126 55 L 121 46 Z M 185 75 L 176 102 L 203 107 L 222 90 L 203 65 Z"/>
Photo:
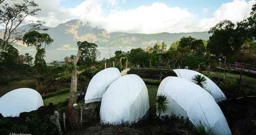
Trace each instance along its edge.
<path fill-rule="evenodd" d="M 87 2 L 90 0 L 87 0 Z M 150 6 L 140 6 L 130 10 L 113 9 L 108 15 L 102 15 L 102 7 L 96 3 L 91 3 L 90 7 L 95 7 L 88 12 L 88 8 L 78 9 L 79 19 L 83 22 L 91 22 L 93 26 L 105 28 L 113 32 L 129 33 L 158 33 L 158 32 L 194 32 L 208 31 L 218 22 L 229 19 L 236 23 L 249 16 L 252 5 L 256 3 L 251 0 L 248 3 L 244 0 L 234 0 L 224 3 L 213 13 L 212 18 L 199 17 L 180 7 L 168 7 L 163 3 L 153 3 Z M 85 6 L 83 6 L 85 7 Z M 208 9 L 204 9 L 208 12 Z M 91 16 L 90 14 L 93 14 Z"/>

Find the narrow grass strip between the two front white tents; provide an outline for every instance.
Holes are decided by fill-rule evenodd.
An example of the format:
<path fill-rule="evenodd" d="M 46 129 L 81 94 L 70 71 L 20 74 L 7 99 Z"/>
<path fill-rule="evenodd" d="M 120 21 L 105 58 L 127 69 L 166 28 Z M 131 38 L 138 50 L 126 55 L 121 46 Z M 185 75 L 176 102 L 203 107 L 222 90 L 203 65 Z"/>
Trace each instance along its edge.
<path fill-rule="evenodd" d="M 155 99 L 157 98 L 157 90 L 158 85 L 146 85 L 148 90 L 148 98 L 149 98 L 149 113 L 150 116 L 155 117 Z"/>

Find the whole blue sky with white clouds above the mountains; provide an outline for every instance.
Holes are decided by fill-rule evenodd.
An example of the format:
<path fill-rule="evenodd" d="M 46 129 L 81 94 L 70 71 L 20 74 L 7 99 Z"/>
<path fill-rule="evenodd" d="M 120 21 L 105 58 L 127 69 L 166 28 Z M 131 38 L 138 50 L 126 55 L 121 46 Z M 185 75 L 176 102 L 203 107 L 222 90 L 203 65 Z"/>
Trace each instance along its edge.
<path fill-rule="evenodd" d="M 256 0 L 35 0 L 42 10 L 30 19 L 56 27 L 71 19 L 109 32 L 153 34 L 208 31 L 216 23 L 249 16 Z"/>

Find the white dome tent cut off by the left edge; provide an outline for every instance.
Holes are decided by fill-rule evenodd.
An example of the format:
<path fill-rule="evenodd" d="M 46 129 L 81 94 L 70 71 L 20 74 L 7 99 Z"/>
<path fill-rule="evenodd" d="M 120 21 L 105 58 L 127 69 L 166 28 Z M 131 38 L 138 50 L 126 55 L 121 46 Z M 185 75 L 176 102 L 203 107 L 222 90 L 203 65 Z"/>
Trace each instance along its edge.
<path fill-rule="evenodd" d="M 21 112 L 30 112 L 44 106 L 41 95 L 30 88 L 20 88 L 6 93 L 0 98 L 0 113 L 4 117 L 16 117 Z"/>

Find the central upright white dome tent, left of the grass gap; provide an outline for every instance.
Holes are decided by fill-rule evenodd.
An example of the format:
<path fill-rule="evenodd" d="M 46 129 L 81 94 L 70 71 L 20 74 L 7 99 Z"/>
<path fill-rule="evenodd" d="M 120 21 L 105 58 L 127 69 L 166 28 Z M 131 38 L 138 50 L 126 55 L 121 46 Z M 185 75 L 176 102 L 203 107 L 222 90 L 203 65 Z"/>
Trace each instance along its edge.
<path fill-rule="evenodd" d="M 132 124 L 148 115 L 149 101 L 144 81 L 135 74 L 114 81 L 104 93 L 99 116 L 101 124 Z"/>

